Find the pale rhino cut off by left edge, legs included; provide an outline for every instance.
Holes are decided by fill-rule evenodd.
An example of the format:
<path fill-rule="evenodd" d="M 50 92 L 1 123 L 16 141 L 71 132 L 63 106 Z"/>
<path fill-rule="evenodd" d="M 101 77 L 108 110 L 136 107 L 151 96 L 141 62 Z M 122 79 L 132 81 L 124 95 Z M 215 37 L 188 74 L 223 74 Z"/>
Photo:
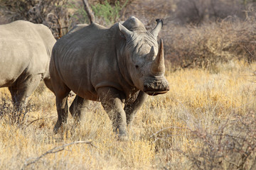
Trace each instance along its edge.
<path fill-rule="evenodd" d="M 0 26 L 0 87 L 9 87 L 15 108 L 26 106 L 41 80 L 53 91 L 48 67 L 55 42 L 41 24 L 15 21 Z"/>

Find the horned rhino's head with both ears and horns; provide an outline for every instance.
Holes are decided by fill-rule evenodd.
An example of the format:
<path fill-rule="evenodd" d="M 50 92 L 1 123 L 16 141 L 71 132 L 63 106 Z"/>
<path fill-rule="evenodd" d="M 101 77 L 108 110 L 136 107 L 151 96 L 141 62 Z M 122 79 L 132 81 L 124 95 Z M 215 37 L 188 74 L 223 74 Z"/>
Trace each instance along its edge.
<path fill-rule="evenodd" d="M 126 39 L 123 54 L 128 62 L 129 77 L 137 89 L 151 96 L 169 91 L 164 77 L 164 42 L 160 40 L 160 45 L 157 42 L 163 22 L 160 19 L 156 22 L 156 27 L 148 31 L 135 17 L 123 23 L 126 27 L 119 23 L 119 30 Z"/>

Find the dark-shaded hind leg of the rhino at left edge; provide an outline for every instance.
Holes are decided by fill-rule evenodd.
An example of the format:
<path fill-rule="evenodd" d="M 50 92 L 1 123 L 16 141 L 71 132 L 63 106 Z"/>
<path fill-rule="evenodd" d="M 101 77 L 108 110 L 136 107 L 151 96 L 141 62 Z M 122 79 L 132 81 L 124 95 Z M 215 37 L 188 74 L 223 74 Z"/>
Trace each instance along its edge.
<path fill-rule="evenodd" d="M 36 90 L 40 81 L 41 74 L 28 76 L 26 79 L 20 77 L 14 83 L 14 86 L 9 87 L 11 98 L 14 102 L 14 119 L 17 119 L 17 121 L 19 121 L 21 114 L 26 111 L 28 96 L 31 96 L 33 91 Z"/>

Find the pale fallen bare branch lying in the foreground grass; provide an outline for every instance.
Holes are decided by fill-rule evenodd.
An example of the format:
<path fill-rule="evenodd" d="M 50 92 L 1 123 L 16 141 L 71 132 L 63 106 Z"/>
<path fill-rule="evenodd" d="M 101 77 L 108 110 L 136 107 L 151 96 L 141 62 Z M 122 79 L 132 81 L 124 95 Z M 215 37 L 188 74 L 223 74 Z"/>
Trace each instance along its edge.
<path fill-rule="evenodd" d="M 36 159 L 33 160 L 32 162 L 28 162 L 28 163 L 25 162 L 25 163 L 23 164 L 21 170 L 24 170 L 24 169 L 26 168 L 26 166 L 28 166 L 28 165 L 35 164 L 36 162 L 38 162 L 39 159 L 41 159 L 42 157 L 46 156 L 46 154 L 54 154 L 54 153 L 56 153 L 56 152 L 63 151 L 63 150 L 65 149 L 65 147 L 68 147 L 68 146 L 70 146 L 70 145 L 83 144 L 83 143 L 89 144 L 89 145 L 91 145 L 92 147 L 95 147 L 95 145 L 92 145 L 92 142 L 91 142 L 91 141 L 90 141 L 90 142 L 86 142 L 86 141 L 76 141 L 76 142 L 72 142 L 72 143 L 69 143 L 69 144 L 62 145 L 62 146 L 60 146 L 60 147 L 53 147 L 53 149 L 48 150 L 48 151 L 45 152 L 44 154 L 41 154 L 40 157 L 36 157 Z M 95 147 L 95 148 L 97 148 L 97 147 Z M 27 159 L 27 160 L 28 160 L 28 159 Z"/>

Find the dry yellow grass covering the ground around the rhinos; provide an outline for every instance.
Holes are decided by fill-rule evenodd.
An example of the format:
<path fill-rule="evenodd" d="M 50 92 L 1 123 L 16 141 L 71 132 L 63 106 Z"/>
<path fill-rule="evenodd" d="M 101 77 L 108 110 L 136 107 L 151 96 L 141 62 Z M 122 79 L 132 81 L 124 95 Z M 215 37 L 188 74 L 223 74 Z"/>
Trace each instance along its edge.
<path fill-rule="evenodd" d="M 221 159 L 219 163 L 223 158 L 218 157 L 219 152 L 214 152 L 214 157 L 206 152 L 206 140 L 217 146 L 219 138 L 214 132 L 242 134 L 242 128 L 235 129 L 227 121 L 237 120 L 237 115 L 255 115 L 255 67 L 256 64 L 230 62 L 218 65 L 218 74 L 203 69 L 167 72 L 171 91 L 148 98 L 129 127 L 128 142 L 117 141 L 100 103 L 90 103 L 78 127 L 73 127 L 70 116 L 63 135 L 54 135 L 54 96 L 48 90 L 38 90 L 31 96 L 33 111 L 27 113 L 23 125 L 11 125 L 8 114 L 0 120 L 0 169 L 211 169 L 210 162 L 218 162 L 213 167 L 229 167 L 228 161 L 233 160 Z M 7 89 L 0 93 L 10 99 Z M 225 130 L 221 131 L 221 127 Z M 253 137 L 248 139 L 255 142 Z M 91 142 L 93 146 L 80 143 L 59 152 L 53 149 L 75 141 Z M 225 149 L 225 139 L 222 141 L 220 153 L 228 157 L 231 154 Z M 56 152 L 30 164 L 50 149 Z"/>

